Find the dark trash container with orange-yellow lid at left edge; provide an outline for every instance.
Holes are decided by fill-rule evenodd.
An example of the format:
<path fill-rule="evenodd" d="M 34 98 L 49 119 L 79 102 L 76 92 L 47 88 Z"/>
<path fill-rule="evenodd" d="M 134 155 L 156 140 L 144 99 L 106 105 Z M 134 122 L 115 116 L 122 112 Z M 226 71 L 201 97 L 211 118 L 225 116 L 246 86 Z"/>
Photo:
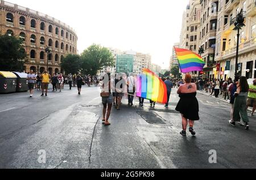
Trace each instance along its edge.
<path fill-rule="evenodd" d="M 17 76 L 13 72 L 0 71 L 0 93 L 16 92 Z"/>

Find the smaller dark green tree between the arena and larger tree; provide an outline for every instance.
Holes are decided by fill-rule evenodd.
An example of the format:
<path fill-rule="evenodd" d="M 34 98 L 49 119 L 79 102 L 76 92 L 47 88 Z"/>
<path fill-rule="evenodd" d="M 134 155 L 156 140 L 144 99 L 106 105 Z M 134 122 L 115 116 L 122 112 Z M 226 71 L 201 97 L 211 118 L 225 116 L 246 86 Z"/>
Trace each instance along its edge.
<path fill-rule="evenodd" d="M 62 61 L 60 66 L 69 74 L 75 74 L 81 70 L 82 61 L 80 55 L 68 54 Z"/>

